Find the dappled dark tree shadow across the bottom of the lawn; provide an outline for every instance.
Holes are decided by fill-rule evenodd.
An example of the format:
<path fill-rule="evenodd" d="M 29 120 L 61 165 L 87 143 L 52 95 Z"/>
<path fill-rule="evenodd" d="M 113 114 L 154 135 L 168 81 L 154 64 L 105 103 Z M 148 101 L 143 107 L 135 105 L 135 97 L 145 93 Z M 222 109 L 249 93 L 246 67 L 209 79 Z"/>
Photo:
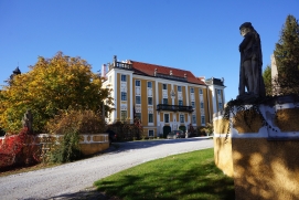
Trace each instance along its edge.
<path fill-rule="evenodd" d="M 174 173 L 175 172 L 175 173 Z M 171 171 L 172 173 L 172 171 Z M 157 176 L 159 182 L 164 186 L 152 183 L 141 185 L 148 176 Z M 161 181 L 162 179 L 162 181 Z M 194 186 L 189 182 L 193 181 Z M 86 189 L 75 193 L 52 197 L 51 199 L 88 199 L 88 200 L 131 200 L 139 199 L 196 199 L 196 200 L 233 200 L 235 199 L 233 179 L 225 177 L 213 162 L 202 165 L 201 168 L 179 172 L 173 170 L 173 176 L 161 176 L 160 173 L 143 173 L 142 176 L 124 176 L 116 181 L 97 181 L 96 188 Z M 105 191 L 105 192 L 103 192 Z M 107 194 L 105 194 L 107 193 Z"/>

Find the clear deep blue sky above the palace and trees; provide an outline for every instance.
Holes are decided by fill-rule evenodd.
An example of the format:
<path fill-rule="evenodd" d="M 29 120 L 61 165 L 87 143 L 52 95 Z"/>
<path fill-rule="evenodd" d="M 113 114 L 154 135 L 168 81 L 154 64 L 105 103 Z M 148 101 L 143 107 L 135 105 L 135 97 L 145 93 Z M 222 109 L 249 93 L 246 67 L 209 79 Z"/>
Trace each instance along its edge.
<path fill-rule="evenodd" d="M 19 65 L 57 51 L 102 64 L 134 60 L 224 77 L 226 102 L 238 94 L 239 25 L 261 39 L 264 69 L 298 0 L 0 0 L 0 85 Z"/>

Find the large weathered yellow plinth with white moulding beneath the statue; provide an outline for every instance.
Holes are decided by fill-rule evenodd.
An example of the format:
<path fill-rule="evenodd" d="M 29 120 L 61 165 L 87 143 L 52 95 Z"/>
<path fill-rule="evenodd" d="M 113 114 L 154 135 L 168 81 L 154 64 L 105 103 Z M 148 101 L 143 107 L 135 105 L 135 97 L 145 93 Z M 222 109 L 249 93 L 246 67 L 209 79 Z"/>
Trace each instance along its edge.
<path fill-rule="evenodd" d="M 299 199 L 297 106 L 260 105 L 261 117 L 252 113 L 249 123 L 236 109 L 229 120 L 214 117 L 215 164 L 234 178 L 236 199 Z"/>

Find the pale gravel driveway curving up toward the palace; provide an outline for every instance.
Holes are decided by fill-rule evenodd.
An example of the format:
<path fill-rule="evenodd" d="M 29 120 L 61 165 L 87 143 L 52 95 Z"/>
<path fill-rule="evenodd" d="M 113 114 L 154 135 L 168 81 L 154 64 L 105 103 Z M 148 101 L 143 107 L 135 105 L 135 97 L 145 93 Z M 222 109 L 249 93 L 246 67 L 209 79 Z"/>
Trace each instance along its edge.
<path fill-rule="evenodd" d="M 118 143 L 119 148 L 53 168 L 0 177 L 0 199 L 63 199 L 94 181 L 139 164 L 213 147 L 207 138 Z"/>

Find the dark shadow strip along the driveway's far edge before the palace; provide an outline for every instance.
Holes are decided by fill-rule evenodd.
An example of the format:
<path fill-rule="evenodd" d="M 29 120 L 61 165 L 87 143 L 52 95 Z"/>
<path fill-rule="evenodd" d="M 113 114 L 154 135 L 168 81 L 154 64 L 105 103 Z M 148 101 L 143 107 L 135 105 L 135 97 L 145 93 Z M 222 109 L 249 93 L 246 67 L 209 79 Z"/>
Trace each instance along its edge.
<path fill-rule="evenodd" d="M 179 143 L 188 143 L 191 141 L 199 141 L 199 140 L 207 140 L 213 139 L 211 137 L 191 137 L 191 138 L 180 138 L 180 139 L 157 139 L 157 140 L 137 140 L 137 141 L 125 141 L 125 143 L 113 143 L 110 148 L 102 151 L 98 155 L 103 154 L 117 154 L 121 151 L 127 150 L 135 150 L 135 149 L 143 149 L 143 148 L 150 148 L 159 145 L 170 145 L 170 144 L 179 144 Z"/>

